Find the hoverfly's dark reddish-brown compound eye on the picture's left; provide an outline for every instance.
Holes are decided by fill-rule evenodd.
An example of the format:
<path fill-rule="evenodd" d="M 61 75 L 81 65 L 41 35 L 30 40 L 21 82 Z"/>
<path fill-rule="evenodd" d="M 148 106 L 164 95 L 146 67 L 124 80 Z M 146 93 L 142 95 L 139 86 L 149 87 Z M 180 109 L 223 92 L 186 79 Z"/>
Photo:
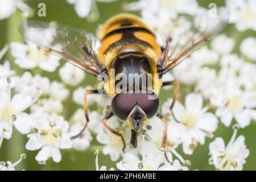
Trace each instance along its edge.
<path fill-rule="evenodd" d="M 125 121 L 136 104 L 137 101 L 135 94 L 119 93 L 113 98 L 111 106 L 114 115 Z"/>

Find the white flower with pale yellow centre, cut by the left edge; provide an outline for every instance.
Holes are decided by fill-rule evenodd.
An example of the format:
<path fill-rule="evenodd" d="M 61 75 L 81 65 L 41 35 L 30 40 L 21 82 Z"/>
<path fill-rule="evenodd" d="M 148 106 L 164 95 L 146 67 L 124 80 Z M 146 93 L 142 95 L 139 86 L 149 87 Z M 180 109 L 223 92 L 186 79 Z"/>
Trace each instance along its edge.
<path fill-rule="evenodd" d="M 24 94 L 15 94 L 11 97 L 11 89 L 0 91 L 0 146 L 3 138 L 10 139 L 13 125 L 22 133 L 30 132 L 32 119 L 23 111 L 30 107 L 38 98 Z"/>

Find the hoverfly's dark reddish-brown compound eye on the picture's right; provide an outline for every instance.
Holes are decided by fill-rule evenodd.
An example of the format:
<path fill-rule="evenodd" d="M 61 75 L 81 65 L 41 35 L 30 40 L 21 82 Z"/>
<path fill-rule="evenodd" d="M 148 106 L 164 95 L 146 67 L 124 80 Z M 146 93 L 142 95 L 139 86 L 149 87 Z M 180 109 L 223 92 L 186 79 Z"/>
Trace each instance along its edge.
<path fill-rule="evenodd" d="M 155 96 L 154 93 L 138 93 L 137 104 L 146 113 L 147 118 L 152 118 L 158 112 L 160 101 L 159 97 Z"/>

